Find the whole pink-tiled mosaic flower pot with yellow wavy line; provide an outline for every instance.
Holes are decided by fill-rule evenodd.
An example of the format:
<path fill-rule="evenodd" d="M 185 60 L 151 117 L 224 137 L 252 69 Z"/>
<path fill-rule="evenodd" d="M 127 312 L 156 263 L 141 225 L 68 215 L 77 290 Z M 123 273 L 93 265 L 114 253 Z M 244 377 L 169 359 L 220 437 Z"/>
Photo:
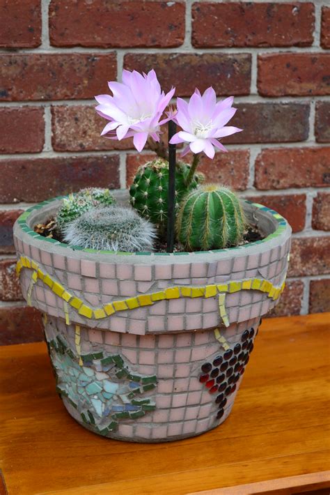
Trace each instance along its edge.
<path fill-rule="evenodd" d="M 283 291 L 288 223 L 246 202 L 263 241 L 195 253 L 95 252 L 33 232 L 60 200 L 29 208 L 14 234 L 24 298 L 44 314 L 65 408 L 92 432 L 126 441 L 172 441 L 220 425 L 260 318 Z"/>

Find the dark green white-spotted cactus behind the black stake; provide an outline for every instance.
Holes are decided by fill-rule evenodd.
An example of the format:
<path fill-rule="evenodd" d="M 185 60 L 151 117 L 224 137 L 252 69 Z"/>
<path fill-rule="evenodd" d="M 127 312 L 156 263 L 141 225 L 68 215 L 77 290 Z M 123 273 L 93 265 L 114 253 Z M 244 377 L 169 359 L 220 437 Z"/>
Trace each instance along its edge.
<path fill-rule="evenodd" d="M 189 165 L 178 162 L 175 172 L 176 211 L 178 211 L 179 203 L 184 194 L 194 190 L 198 181 L 201 182 L 201 174 L 195 175 L 187 189 L 185 180 L 189 174 L 189 169 Z M 157 224 L 160 234 L 164 234 L 168 208 L 168 162 L 162 158 L 157 158 L 139 167 L 129 189 L 129 195 L 132 206 L 136 208 L 139 214 Z"/>

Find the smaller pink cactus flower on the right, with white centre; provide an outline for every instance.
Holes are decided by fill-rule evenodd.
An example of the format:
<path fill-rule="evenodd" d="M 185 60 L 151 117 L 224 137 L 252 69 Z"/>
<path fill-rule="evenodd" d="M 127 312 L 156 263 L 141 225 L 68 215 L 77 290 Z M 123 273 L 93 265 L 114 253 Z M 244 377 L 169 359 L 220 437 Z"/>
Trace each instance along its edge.
<path fill-rule="evenodd" d="M 217 102 L 217 96 L 212 88 L 207 88 L 201 96 L 198 89 L 191 96 L 189 103 L 178 98 L 178 112 L 173 120 L 180 125 L 171 139 L 171 144 L 189 143 L 182 151 L 182 156 L 189 151 L 201 153 L 204 151 L 209 158 L 214 158 L 214 146 L 221 151 L 227 151 L 218 139 L 230 136 L 242 129 L 226 125 L 236 112 L 233 105 L 233 96 Z"/>

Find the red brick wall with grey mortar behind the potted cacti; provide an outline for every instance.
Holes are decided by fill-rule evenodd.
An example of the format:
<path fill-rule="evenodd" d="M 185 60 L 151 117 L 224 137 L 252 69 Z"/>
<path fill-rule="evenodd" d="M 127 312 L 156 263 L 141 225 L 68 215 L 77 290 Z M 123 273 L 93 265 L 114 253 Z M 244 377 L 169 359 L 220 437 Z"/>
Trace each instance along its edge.
<path fill-rule="evenodd" d="M 93 96 L 123 67 L 155 68 L 183 97 L 211 84 L 235 95 L 244 132 L 202 168 L 292 224 L 276 314 L 330 310 L 329 48 L 327 0 L 0 0 L 0 335 L 17 342 L 9 322 L 39 321 L 13 275 L 19 212 L 83 185 L 125 187 L 147 158 L 100 137 Z"/>

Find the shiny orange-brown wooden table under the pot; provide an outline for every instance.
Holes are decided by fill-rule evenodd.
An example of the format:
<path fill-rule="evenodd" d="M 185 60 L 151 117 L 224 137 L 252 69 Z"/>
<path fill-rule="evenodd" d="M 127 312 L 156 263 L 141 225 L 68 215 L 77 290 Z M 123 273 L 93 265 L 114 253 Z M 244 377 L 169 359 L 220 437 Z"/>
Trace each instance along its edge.
<path fill-rule="evenodd" d="M 8 494 L 323 493 L 330 487 L 329 322 L 330 313 L 264 320 L 228 420 L 173 443 L 88 432 L 55 393 L 44 343 L 0 348 Z"/>

